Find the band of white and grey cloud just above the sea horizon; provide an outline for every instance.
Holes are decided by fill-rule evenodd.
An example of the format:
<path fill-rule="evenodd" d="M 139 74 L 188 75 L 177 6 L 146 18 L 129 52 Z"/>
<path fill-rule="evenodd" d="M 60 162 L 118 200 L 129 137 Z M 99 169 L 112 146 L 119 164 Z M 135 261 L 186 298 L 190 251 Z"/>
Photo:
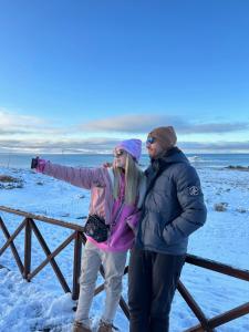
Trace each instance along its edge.
<path fill-rule="evenodd" d="M 123 115 L 80 126 L 60 127 L 45 118 L 20 115 L 3 108 L 0 108 L 0 152 L 111 153 L 124 137 L 133 135 L 145 139 L 149 131 L 160 125 L 174 125 L 179 137 L 179 146 L 186 151 L 249 152 L 249 142 L 242 139 L 243 134 L 240 138 L 235 138 L 235 142 L 215 141 L 215 143 L 212 143 L 215 135 L 211 135 L 243 132 L 248 129 L 248 123 L 194 123 L 172 115 L 145 114 Z M 198 141 L 200 136 L 195 136 L 200 134 L 201 142 Z M 180 136 L 185 142 L 184 139 L 180 142 Z"/>

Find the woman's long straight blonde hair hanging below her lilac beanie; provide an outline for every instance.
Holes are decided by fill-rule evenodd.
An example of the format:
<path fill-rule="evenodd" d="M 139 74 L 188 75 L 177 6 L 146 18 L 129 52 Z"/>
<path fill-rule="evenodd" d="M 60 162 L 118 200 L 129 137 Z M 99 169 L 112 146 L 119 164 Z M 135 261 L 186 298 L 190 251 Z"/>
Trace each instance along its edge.
<path fill-rule="evenodd" d="M 114 167 L 114 188 L 113 196 L 118 198 L 121 187 L 121 173 L 122 169 Z M 138 201 L 138 188 L 142 179 L 144 178 L 143 170 L 135 163 L 134 158 L 127 153 L 125 162 L 125 204 L 136 205 Z"/>

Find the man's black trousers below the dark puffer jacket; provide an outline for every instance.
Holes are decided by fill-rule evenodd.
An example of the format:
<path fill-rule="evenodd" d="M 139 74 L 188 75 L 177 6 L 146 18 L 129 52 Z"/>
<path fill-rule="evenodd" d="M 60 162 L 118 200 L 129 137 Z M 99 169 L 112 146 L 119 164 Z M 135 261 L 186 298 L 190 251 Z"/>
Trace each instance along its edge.
<path fill-rule="evenodd" d="M 167 332 L 185 255 L 134 248 L 128 272 L 129 332 Z"/>

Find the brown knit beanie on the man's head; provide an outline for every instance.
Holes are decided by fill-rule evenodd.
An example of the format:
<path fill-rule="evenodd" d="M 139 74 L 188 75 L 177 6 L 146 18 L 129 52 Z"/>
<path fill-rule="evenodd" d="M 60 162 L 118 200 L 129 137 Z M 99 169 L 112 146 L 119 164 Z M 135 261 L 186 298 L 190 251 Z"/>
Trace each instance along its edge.
<path fill-rule="evenodd" d="M 177 136 L 173 126 L 158 127 L 153 129 L 148 136 L 155 137 L 163 149 L 169 149 L 176 145 Z"/>

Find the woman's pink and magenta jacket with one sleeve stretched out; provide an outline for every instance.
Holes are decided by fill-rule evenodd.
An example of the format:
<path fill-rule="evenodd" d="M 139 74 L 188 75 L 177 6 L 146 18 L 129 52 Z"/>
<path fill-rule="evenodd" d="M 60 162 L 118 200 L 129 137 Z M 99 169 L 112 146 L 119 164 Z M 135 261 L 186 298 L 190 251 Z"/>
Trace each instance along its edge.
<path fill-rule="evenodd" d="M 106 251 L 126 251 L 133 246 L 134 232 L 139 219 L 138 208 L 142 206 L 145 193 L 145 181 L 141 184 L 136 207 L 122 205 L 121 197 L 114 201 L 112 168 L 74 168 L 46 162 L 42 173 L 91 190 L 89 214 L 103 217 L 111 226 L 111 236 L 106 242 L 98 243 L 89 237 L 91 242 Z"/>

